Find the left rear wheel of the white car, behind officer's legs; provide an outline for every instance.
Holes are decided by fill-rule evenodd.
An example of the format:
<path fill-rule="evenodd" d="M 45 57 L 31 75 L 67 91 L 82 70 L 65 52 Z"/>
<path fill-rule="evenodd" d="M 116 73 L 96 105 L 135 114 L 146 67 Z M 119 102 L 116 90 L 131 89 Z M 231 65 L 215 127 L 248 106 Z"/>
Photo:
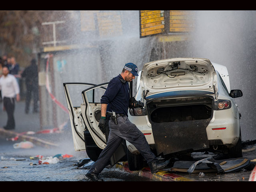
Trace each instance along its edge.
<path fill-rule="evenodd" d="M 143 168 L 143 157 L 141 154 L 132 154 L 127 148 L 128 168 L 130 171 L 138 171 Z"/>

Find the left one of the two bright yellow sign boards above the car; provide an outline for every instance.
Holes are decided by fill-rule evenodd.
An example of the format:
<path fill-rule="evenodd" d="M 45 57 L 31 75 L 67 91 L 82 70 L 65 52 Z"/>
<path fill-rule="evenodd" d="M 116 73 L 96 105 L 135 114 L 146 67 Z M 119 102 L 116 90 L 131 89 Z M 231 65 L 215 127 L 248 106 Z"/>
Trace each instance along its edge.
<path fill-rule="evenodd" d="M 164 32 L 164 11 L 140 11 L 140 37 Z"/>

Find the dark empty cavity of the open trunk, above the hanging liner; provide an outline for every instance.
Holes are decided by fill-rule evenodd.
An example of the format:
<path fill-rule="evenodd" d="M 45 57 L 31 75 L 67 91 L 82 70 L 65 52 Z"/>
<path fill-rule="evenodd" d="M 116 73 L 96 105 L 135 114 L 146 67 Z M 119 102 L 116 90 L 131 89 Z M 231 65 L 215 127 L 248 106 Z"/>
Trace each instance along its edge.
<path fill-rule="evenodd" d="M 154 104 L 154 102 L 149 104 L 150 120 L 161 123 L 204 120 L 212 117 L 212 98 L 197 100 L 194 104 L 193 102 L 182 104 L 182 100 L 180 100 L 180 104 L 176 103 L 174 105 L 175 101 L 177 102 L 177 100 L 172 100 L 172 102 L 162 100 L 161 102 L 158 101 L 158 104 Z"/>

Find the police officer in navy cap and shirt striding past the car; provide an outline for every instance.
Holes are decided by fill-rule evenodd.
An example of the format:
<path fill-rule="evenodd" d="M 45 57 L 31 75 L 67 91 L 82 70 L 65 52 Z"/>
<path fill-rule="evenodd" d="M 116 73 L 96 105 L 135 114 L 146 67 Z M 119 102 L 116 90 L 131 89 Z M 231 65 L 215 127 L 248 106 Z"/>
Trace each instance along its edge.
<path fill-rule="evenodd" d="M 102 132 L 105 131 L 107 111 L 116 113 L 118 124 L 114 122 L 114 119 L 110 119 L 108 122 L 110 132 L 106 147 L 102 150 L 99 158 L 86 174 L 86 177 L 93 181 L 103 181 L 98 175 L 108 165 L 111 156 L 121 144 L 122 139 L 127 140 L 138 149 L 150 166 L 152 173 L 164 168 L 169 163 L 168 160 L 161 163 L 156 159 L 156 156 L 150 150 L 150 146 L 144 134 L 128 119 L 129 107 L 142 107 L 140 102 L 130 100 L 129 93 L 128 82 L 131 82 L 135 76 L 138 76 L 137 71 L 138 68 L 135 64 L 125 64 L 122 73 L 110 80 L 100 100 L 101 119 L 99 128 Z"/>

